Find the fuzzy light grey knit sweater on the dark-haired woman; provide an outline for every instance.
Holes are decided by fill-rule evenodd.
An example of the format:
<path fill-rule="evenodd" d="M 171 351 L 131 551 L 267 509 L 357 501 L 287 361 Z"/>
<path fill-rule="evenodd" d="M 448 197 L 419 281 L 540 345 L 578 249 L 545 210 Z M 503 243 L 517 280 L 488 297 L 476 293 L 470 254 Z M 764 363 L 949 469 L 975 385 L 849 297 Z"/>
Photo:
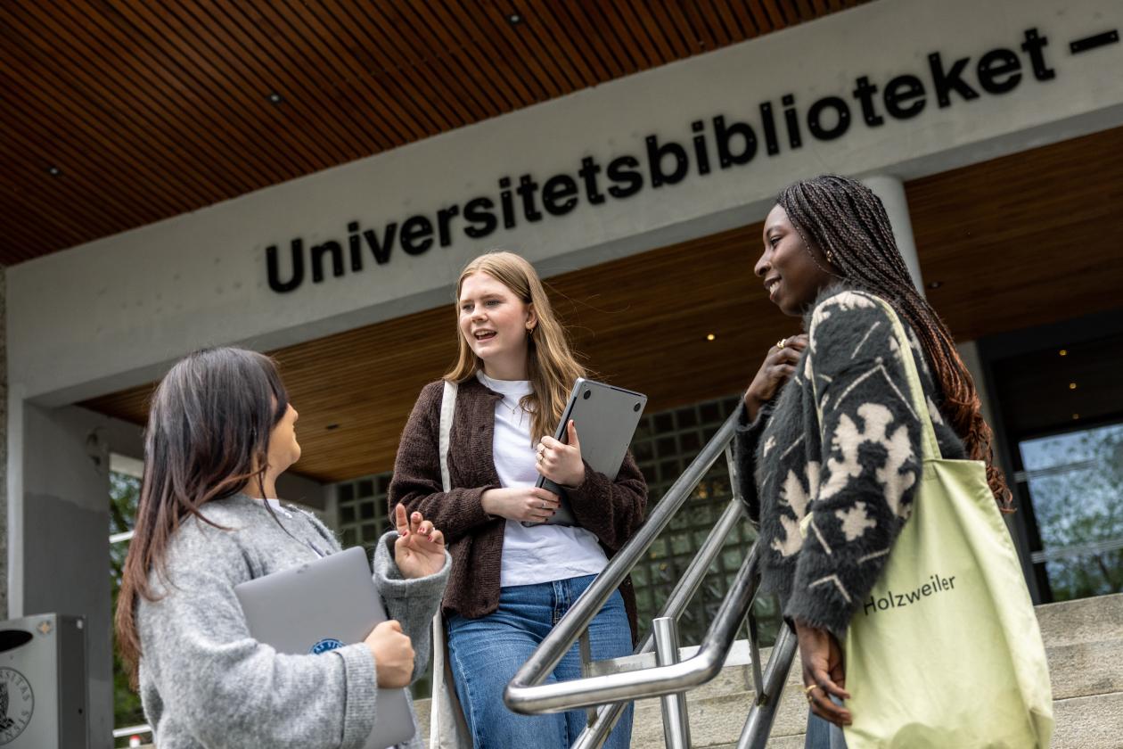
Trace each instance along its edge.
<path fill-rule="evenodd" d="M 202 513 L 229 528 L 184 521 L 168 546 L 170 586 L 152 574 L 156 602 L 140 599 L 140 697 L 159 749 L 362 747 L 377 725 L 375 663 L 364 643 L 323 655 L 280 655 L 249 636 L 234 586 L 334 554 L 339 542 L 298 508 L 276 511 L 237 495 Z M 286 532 L 287 531 L 287 532 Z M 424 672 L 440 573 L 403 579 L 393 560 L 396 532 L 382 537 L 374 579 L 386 613 L 401 622 Z M 414 736 L 410 747 L 423 747 Z"/>

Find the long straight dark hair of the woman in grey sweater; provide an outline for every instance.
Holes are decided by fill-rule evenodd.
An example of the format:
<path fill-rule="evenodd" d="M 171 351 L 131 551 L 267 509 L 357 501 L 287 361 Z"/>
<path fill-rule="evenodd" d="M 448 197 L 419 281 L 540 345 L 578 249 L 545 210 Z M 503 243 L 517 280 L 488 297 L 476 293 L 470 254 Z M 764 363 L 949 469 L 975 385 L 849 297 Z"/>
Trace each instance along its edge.
<path fill-rule="evenodd" d="M 207 502 L 263 484 L 270 432 L 289 408 L 273 359 L 240 348 L 191 354 L 153 394 L 145 428 L 144 477 L 117 600 L 117 638 L 136 685 L 138 596 L 155 601 L 149 573 L 166 579 L 167 545 Z M 217 526 L 216 526 L 217 527 Z"/>

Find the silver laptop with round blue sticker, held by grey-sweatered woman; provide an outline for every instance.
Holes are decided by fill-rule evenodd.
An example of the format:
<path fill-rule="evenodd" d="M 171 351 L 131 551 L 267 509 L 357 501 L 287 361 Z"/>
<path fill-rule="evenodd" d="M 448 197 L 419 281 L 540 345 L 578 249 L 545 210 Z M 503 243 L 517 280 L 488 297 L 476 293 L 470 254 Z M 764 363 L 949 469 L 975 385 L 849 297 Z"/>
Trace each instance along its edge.
<path fill-rule="evenodd" d="M 386 621 L 366 551 L 359 547 L 241 583 L 234 592 L 249 633 L 277 652 L 327 654 L 362 642 L 375 624 Z M 378 689 L 375 705 L 374 730 L 364 749 L 386 749 L 412 738 L 405 689 Z"/>

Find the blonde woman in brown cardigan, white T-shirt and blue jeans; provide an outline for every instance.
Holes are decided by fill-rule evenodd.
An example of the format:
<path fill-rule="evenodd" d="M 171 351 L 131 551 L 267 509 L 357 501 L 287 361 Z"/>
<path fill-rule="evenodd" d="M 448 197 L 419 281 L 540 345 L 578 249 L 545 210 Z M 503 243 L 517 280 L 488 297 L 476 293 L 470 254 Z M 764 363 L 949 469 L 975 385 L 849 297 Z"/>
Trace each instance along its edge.
<path fill-rule="evenodd" d="M 642 523 L 647 485 L 630 456 L 615 476 L 590 468 L 572 421 L 567 444 L 549 436 L 585 369 L 530 263 L 506 252 L 475 258 L 457 282 L 456 312 L 459 356 L 413 407 L 390 511 L 404 504 L 421 512 L 448 539 L 453 570 L 442 610 L 453 681 L 475 748 L 568 747 L 585 725 L 583 711 L 517 715 L 503 705 L 503 688 Z M 451 403 L 442 459 L 441 408 Z M 559 497 L 535 486 L 539 475 L 564 487 L 576 526 L 544 522 Z M 630 582 L 588 633 L 594 659 L 631 654 Z M 551 678 L 578 676 L 574 646 Z M 629 707 L 605 746 L 627 747 L 630 736 Z"/>

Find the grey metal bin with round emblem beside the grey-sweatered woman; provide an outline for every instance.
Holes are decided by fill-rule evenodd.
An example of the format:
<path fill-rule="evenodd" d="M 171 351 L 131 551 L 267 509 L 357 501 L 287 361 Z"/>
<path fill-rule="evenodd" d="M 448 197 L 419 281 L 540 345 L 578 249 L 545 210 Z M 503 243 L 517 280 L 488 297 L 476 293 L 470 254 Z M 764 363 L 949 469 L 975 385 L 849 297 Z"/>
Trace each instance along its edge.
<path fill-rule="evenodd" d="M 83 616 L 0 622 L 0 747 L 84 749 L 88 702 Z"/>

